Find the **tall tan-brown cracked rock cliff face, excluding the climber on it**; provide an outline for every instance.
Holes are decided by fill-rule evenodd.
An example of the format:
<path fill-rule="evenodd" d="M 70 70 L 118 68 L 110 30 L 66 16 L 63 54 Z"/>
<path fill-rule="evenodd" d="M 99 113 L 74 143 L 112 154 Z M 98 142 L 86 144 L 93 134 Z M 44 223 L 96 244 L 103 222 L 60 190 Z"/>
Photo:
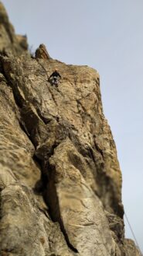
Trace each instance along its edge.
<path fill-rule="evenodd" d="M 140 255 L 98 73 L 27 51 L 0 4 L 0 255 Z M 55 70 L 58 88 L 48 82 Z"/>

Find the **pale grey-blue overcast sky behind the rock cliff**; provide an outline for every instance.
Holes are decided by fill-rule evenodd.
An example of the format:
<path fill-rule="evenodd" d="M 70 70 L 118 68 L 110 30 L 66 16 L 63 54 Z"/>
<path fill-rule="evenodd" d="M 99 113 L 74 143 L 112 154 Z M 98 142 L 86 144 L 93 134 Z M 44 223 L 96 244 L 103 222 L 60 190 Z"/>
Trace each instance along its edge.
<path fill-rule="evenodd" d="M 44 43 L 52 58 L 100 73 L 104 114 L 123 174 L 124 209 L 143 251 L 143 0 L 2 2 L 33 50 Z"/>

